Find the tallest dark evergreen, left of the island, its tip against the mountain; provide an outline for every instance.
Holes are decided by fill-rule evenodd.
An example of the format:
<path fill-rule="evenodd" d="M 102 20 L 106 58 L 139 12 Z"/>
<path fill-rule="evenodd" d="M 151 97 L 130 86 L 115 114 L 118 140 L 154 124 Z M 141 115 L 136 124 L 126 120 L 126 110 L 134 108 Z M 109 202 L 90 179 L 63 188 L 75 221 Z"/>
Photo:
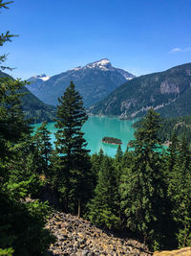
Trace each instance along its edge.
<path fill-rule="evenodd" d="M 91 178 L 89 151 L 81 131 L 88 116 L 73 81 L 58 101 L 55 125 L 58 128 L 55 133 L 58 190 L 64 199 L 65 210 L 80 216 L 81 206 L 88 199 Z"/>

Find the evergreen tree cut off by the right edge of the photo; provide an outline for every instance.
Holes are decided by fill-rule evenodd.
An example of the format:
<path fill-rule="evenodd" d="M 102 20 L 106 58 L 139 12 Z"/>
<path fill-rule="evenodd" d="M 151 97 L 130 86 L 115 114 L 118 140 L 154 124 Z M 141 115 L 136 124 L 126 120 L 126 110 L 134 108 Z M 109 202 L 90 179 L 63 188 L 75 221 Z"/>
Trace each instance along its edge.
<path fill-rule="evenodd" d="M 172 175 L 168 195 L 172 200 L 177 240 L 179 246 L 182 247 L 191 245 L 191 152 L 185 139 L 180 142 L 178 149 L 176 162 L 173 163 L 173 169 L 169 170 Z M 171 167 L 172 165 L 167 166 Z"/>

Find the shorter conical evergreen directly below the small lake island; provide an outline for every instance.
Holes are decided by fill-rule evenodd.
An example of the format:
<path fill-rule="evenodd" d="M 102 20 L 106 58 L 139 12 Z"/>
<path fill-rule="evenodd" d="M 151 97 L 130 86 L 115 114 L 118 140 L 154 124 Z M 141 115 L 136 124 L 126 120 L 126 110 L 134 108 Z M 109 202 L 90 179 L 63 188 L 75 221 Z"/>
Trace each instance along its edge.
<path fill-rule="evenodd" d="M 98 174 L 95 198 L 89 204 L 89 219 L 97 226 L 104 228 L 118 228 L 119 205 L 116 172 L 113 160 L 104 157 Z"/>

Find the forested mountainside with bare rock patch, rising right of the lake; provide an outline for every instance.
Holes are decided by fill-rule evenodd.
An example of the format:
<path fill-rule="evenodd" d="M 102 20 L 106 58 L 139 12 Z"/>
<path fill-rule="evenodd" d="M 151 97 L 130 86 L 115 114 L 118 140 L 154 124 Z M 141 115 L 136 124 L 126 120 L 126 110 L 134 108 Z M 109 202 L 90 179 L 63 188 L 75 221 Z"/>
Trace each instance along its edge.
<path fill-rule="evenodd" d="M 126 81 L 89 112 L 135 118 L 150 107 L 164 117 L 191 114 L 191 63 Z"/>

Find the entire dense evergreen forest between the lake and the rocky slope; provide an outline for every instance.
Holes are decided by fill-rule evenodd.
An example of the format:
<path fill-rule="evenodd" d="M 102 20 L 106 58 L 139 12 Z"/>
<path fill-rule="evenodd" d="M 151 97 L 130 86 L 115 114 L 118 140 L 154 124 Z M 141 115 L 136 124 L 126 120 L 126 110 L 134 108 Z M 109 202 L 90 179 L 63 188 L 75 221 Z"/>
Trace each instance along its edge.
<path fill-rule="evenodd" d="M 0 0 L 0 8 L 7 5 Z M 0 35 L 0 45 L 10 39 Z M 24 85 L 0 79 L 0 255 L 46 255 L 54 242 L 45 229 L 52 209 L 39 198 L 48 186 L 62 211 L 128 231 L 151 250 L 191 245 L 191 152 L 175 133 L 168 150 L 158 151 L 158 113 L 149 109 L 139 123 L 134 151 L 118 146 L 115 158 L 90 155 L 81 131 L 88 116 L 71 82 L 58 100 L 53 150 L 46 123 L 32 134 Z"/>

